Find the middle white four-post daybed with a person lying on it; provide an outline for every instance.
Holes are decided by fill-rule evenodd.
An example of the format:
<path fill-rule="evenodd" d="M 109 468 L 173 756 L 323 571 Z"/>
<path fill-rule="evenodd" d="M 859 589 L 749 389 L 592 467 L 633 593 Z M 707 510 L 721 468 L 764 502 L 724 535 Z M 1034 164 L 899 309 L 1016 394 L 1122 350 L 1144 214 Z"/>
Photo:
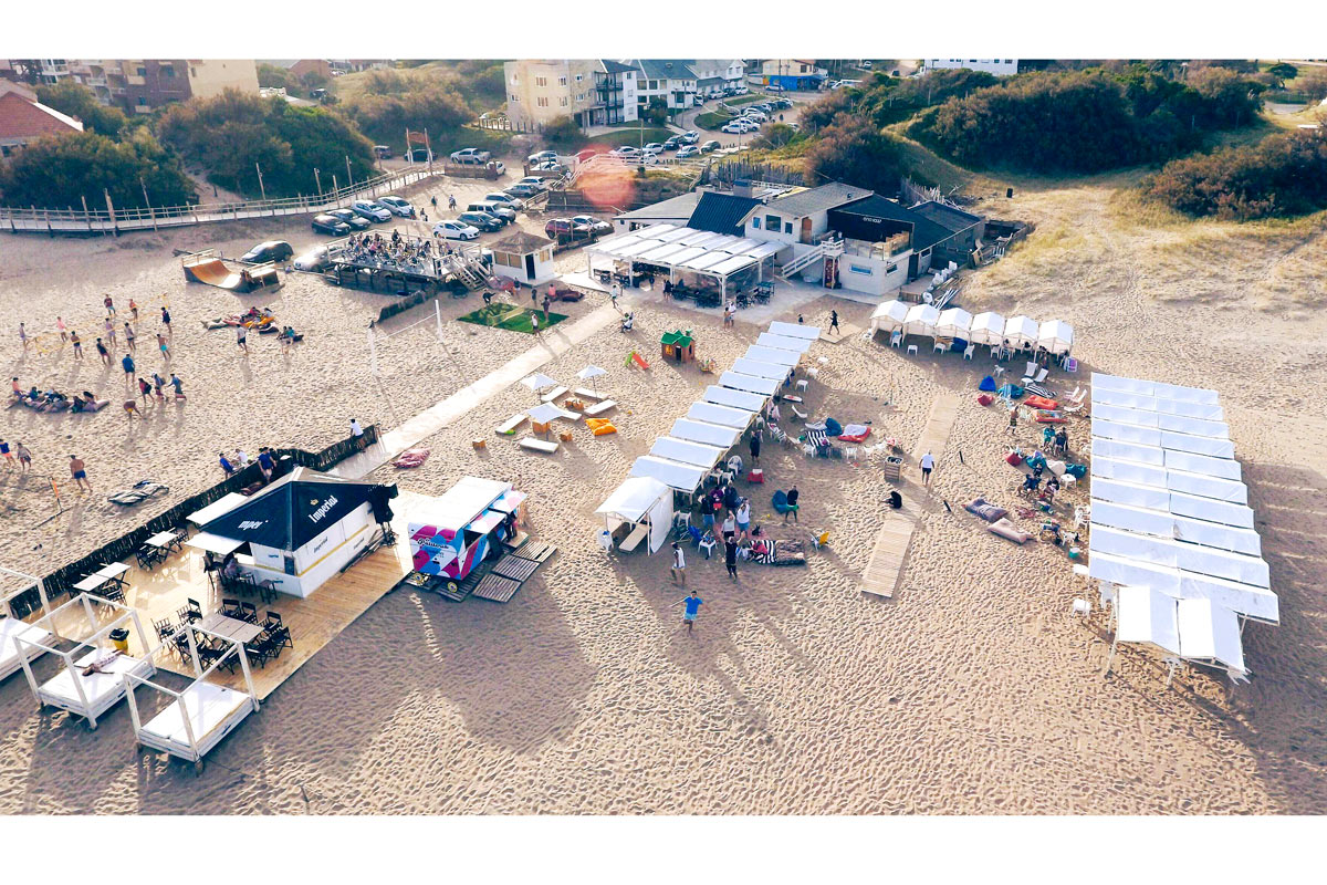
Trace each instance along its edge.
<path fill-rule="evenodd" d="M 105 617 L 106 612 L 111 617 Z M 68 614 L 66 614 L 68 613 Z M 80 618 L 78 614 L 82 614 Z M 89 728 L 97 727 L 97 719 L 125 698 L 125 677 L 149 678 L 157 673 L 151 657 L 135 658 L 127 653 L 126 638 L 130 630 L 138 637 L 141 649 L 150 649 L 147 634 L 138 620 L 138 612 L 104 600 L 100 596 L 80 593 L 64 605 L 53 609 L 48 624 L 60 624 L 61 616 L 73 617 L 86 630 L 86 638 L 72 649 L 54 647 L 54 641 L 31 642 L 23 637 L 13 641 L 19 646 L 19 663 L 28 677 L 28 687 L 40 709 L 57 707 L 88 720 Z M 114 636 L 113 636 L 114 634 Z M 73 638 L 60 630 L 61 638 Z M 45 682 L 37 682 L 32 670 L 35 646 L 37 654 L 50 654 L 60 658 L 60 670 Z"/>

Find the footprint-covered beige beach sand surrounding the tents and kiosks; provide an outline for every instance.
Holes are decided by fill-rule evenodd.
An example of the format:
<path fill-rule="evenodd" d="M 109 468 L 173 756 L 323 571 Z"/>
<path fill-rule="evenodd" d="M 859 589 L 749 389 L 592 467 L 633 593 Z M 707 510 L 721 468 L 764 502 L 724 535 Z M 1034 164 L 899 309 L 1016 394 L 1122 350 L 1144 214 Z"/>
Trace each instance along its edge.
<path fill-rule="evenodd" d="M 1307 306 L 1323 295 L 1314 257 L 1323 251 L 1322 219 L 1250 228 L 1136 219 L 1115 196 L 1119 183 L 1024 188 L 1016 212 L 1002 202 L 1002 211 L 1039 230 L 975 275 L 962 304 L 1067 320 L 1084 373 L 1221 391 L 1282 601 L 1279 628 L 1245 633 L 1251 685 L 1231 689 L 1186 671 L 1166 690 L 1164 670 L 1135 651 L 1103 675 L 1109 634 L 1099 616 L 1087 624 L 1070 616 L 1074 597 L 1095 593 L 1075 582 L 1063 552 L 1015 548 L 959 510 L 975 495 L 1013 503 L 1018 483 L 1002 460 L 1003 415 L 974 402 L 989 358 L 904 357 L 860 337 L 813 345 L 813 357 L 829 360 L 807 394 L 813 414 L 871 419 L 877 435 L 898 437 L 910 451 L 937 395 L 961 397 L 947 446 L 936 452 L 932 494 L 920 490 L 913 464 L 905 471 L 904 494 L 920 519 L 894 598 L 857 590 L 889 488 L 874 464 L 811 460 L 767 441 L 767 483 L 751 487 L 755 520 L 775 537 L 828 529 L 831 544 L 808 553 L 800 569 L 744 564 L 735 584 L 718 559 L 689 549 L 689 584 L 706 604 L 694 634 L 678 630 L 679 609 L 670 606 L 682 590 L 669 585 L 667 559 L 605 557 L 593 510 L 713 381 L 694 366 L 662 364 L 658 334 L 695 329 L 698 353 L 723 368 L 764 324 L 725 330 L 717 318 L 650 301 L 637 309 L 634 334 L 610 326 L 543 368 L 563 379 L 587 362 L 609 369 L 598 381 L 620 403 L 618 435 L 594 439 L 579 429 L 555 456 L 519 451 L 491 435 L 531 401 L 515 386 L 429 438 L 434 455 L 422 468 L 374 474 L 423 494 L 466 474 L 531 492 L 533 532 L 559 553 L 512 602 L 389 594 L 214 751 L 198 780 L 158 758 L 135 763 L 123 707 L 88 732 L 62 714 L 37 714 L 21 679 L 11 679 L 0 686 L 0 812 L 1327 811 L 1316 577 L 1327 482 L 1314 444 L 1327 431 L 1315 405 L 1327 364 L 1324 321 Z M 0 310 L 8 326 L 19 293 L 78 291 L 74 300 L 85 304 L 109 285 L 106 267 L 119 268 L 126 292 L 131 280 L 165 288 L 178 273 L 157 247 L 33 243 L 17 241 L 19 264 L 29 269 L 16 275 L 5 261 Z M 7 256 L 15 245 L 0 241 Z M 173 291 L 174 309 L 195 316 L 234 297 L 198 287 L 183 295 L 179 284 Z M 163 419 L 159 442 L 143 431 L 126 438 L 121 415 L 98 417 L 105 430 L 78 438 L 93 480 L 106 482 L 110 460 L 126 478 L 169 470 L 192 478 L 211 470 L 215 446 L 231 441 L 332 439 L 352 410 L 384 419 L 362 366 L 338 361 L 362 353 L 368 305 L 380 296 L 321 284 L 292 284 L 283 296 L 296 325 L 320 340 L 317 350 L 287 368 L 272 345 L 272 354 L 251 357 L 245 379 L 224 333 L 214 346 L 196 322 L 182 321 L 191 394 L 210 385 L 216 393 L 191 398 L 184 419 Z M 573 313 L 601 303 L 592 296 Z M 859 326 L 869 314 L 869 306 L 836 299 L 802 308 L 811 322 L 827 322 L 829 309 Z M 447 341 L 468 341 L 471 373 L 531 345 L 492 330 L 467 340 L 458 325 L 447 326 Z M 409 352 L 394 357 L 397 374 L 384 386 L 405 418 L 455 387 L 439 381 L 450 364 L 426 328 L 397 340 L 409 341 Z M 628 341 L 650 357 L 649 373 L 622 366 Z M 413 383 L 407 366 L 433 386 Z M 1074 381 L 1054 377 L 1058 387 Z M 261 406 L 269 393 L 279 406 Z M 1018 439 L 1028 444 L 1036 433 L 1020 427 Z M 1070 433 L 1076 450 L 1087 422 Z M 470 447 L 475 435 L 490 439 L 487 450 Z M 38 455 L 49 455 L 42 448 Z M 790 482 L 803 491 L 802 523 L 784 528 L 768 496 Z M 0 500 L 11 506 L 29 500 L 4 490 Z M 25 519 L 40 510 L 27 507 Z M 3 529 L 8 547 L 44 537 L 12 523 Z M 89 508 L 54 524 L 61 533 L 53 543 L 70 549 L 129 520 Z"/>

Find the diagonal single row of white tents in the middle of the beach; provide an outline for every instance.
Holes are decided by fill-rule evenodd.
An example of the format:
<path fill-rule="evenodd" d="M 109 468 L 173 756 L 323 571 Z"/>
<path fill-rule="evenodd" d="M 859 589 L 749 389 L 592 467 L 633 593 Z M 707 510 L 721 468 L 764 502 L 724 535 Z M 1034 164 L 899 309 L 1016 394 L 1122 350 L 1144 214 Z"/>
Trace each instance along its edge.
<path fill-rule="evenodd" d="M 816 326 L 771 322 L 686 417 L 636 459 L 626 482 L 594 511 L 609 535 L 626 523 L 632 531 L 621 547 L 633 548 L 646 537 L 652 553 L 662 547 L 673 523 L 673 492 L 691 496 L 701 488 L 819 337 Z"/>

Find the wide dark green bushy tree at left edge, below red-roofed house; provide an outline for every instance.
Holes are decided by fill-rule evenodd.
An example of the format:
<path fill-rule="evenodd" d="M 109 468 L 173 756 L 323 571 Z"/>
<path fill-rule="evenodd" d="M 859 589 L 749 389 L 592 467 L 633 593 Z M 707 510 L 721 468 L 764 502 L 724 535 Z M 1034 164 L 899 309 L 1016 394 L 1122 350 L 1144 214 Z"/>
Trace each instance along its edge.
<path fill-rule="evenodd" d="M 117 208 L 183 206 L 198 199 L 179 162 L 146 129 L 115 142 L 94 131 L 42 137 L 0 166 L 0 198 L 8 206 Z"/>

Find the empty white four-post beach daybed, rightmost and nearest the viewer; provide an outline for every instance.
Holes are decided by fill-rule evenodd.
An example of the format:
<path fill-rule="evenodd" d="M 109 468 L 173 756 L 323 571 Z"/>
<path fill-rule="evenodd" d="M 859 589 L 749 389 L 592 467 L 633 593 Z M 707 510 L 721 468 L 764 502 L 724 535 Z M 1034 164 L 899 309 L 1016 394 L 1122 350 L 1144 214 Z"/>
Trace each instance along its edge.
<path fill-rule="evenodd" d="M 198 650 L 199 638 L 203 638 L 211 663 L 204 669 L 202 655 Z M 202 772 L 203 756 L 206 756 L 222 739 L 235 731 L 251 713 L 257 713 L 257 691 L 253 687 L 253 674 L 249 671 L 248 655 L 244 654 L 244 645 L 238 640 L 204 630 L 190 625 L 182 628 L 175 636 L 162 642 L 154 651 L 174 645 L 176 640 L 184 638 L 188 642 L 188 659 L 192 663 L 196 678 L 186 687 L 175 691 L 158 685 L 146 677 L 126 674 L 125 683 L 129 687 L 129 716 L 134 723 L 134 738 L 142 747 L 151 747 L 162 752 L 178 756 L 184 762 L 194 763 L 194 770 Z M 178 646 L 176 646 L 178 647 Z M 244 690 L 230 689 L 210 681 L 218 667 L 234 669 L 239 663 L 240 674 L 244 679 Z M 157 715 L 143 722 L 138 710 L 135 689 L 146 686 L 171 698 Z"/>

